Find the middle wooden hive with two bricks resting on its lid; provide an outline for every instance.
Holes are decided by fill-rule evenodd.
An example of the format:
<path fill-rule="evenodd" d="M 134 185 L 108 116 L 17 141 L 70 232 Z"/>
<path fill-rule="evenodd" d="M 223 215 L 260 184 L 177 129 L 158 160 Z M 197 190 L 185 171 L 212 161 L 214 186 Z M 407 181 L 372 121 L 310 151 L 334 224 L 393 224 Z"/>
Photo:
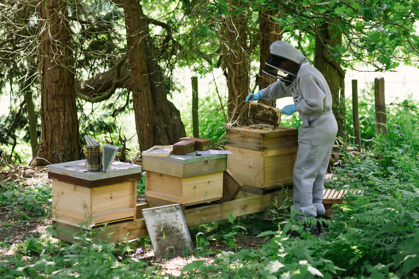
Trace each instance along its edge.
<path fill-rule="evenodd" d="M 143 157 L 145 202 L 182 207 L 220 200 L 227 155 Z"/>

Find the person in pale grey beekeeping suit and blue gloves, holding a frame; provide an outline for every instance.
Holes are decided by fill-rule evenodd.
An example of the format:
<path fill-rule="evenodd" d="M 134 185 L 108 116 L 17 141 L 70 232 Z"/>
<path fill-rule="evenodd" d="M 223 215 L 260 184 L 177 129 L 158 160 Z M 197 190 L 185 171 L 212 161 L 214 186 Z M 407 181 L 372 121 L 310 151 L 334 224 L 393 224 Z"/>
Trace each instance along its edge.
<path fill-rule="evenodd" d="M 294 104 L 284 106 L 281 113 L 291 115 L 298 111 L 303 120 L 292 173 L 294 207 L 300 218 L 323 217 L 323 182 L 338 130 L 329 86 L 321 72 L 285 41 L 271 44 L 262 71 L 278 80 L 249 94 L 246 102 L 292 97 Z"/>

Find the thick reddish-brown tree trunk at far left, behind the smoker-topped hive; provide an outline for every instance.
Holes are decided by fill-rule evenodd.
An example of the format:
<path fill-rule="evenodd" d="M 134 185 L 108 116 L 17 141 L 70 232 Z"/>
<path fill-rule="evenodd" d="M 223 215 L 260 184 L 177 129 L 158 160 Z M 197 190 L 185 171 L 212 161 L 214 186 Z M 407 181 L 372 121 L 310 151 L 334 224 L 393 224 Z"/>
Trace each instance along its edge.
<path fill-rule="evenodd" d="M 41 140 L 32 166 L 78 160 L 81 151 L 67 2 L 42 0 L 38 11 Z"/>

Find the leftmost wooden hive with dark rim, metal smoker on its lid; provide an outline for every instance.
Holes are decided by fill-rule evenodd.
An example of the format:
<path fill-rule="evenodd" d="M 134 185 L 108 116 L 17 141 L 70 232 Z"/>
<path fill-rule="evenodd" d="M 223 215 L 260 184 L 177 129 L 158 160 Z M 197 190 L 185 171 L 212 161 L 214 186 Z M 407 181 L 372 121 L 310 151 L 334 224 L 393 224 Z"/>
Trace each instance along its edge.
<path fill-rule="evenodd" d="M 114 161 L 109 172 L 87 171 L 84 160 L 48 166 L 52 220 L 91 229 L 135 219 L 141 166 Z"/>

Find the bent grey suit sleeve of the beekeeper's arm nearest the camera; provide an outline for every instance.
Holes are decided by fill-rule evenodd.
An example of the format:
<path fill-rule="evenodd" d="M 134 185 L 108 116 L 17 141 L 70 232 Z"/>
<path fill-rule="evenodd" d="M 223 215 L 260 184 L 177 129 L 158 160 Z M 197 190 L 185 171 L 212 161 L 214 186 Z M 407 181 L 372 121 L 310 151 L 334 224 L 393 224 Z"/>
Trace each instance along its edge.
<path fill-rule="evenodd" d="M 305 114 L 313 114 L 323 111 L 323 101 L 326 94 L 317 85 L 312 75 L 299 77 L 299 85 L 303 98 L 296 104 L 297 111 Z"/>

